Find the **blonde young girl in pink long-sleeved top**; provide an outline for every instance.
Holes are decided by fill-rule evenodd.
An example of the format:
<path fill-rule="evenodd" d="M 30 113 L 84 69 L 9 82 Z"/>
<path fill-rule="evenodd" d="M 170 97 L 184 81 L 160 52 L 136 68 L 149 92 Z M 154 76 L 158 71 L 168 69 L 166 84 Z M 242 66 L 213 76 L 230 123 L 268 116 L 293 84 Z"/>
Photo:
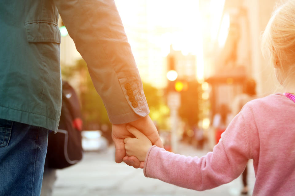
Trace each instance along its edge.
<path fill-rule="evenodd" d="M 213 152 L 186 157 L 152 146 L 148 138 L 127 126 L 136 138 L 126 138 L 128 156 L 144 161 L 144 175 L 180 187 L 205 190 L 229 183 L 253 159 L 253 195 L 295 194 L 295 0 L 274 13 L 263 34 L 278 81 L 286 93 L 248 102 L 222 134 Z"/>

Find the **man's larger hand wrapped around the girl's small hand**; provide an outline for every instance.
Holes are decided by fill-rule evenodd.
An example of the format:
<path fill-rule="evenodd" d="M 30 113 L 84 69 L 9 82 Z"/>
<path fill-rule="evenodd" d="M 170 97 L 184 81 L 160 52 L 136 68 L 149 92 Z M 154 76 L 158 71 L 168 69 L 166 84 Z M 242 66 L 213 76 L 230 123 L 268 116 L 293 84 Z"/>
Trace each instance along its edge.
<path fill-rule="evenodd" d="M 160 140 L 158 131 L 148 115 L 136 121 L 130 122 L 129 124 L 140 130 L 140 132 L 144 135 L 146 135 L 151 141 L 152 145 L 163 148 L 163 144 Z M 115 143 L 116 148 L 116 162 L 121 163 L 123 160 L 126 164 L 133 166 L 134 168 L 143 168 L 144 162 L 140 162 L 135 156 L 126 156 L 124 139 L 133 137 L 132 134 L 130 134 L 129 131 L 126 129 L 126 125 L 127 124 L 112 125 L 112 139 Z"/>

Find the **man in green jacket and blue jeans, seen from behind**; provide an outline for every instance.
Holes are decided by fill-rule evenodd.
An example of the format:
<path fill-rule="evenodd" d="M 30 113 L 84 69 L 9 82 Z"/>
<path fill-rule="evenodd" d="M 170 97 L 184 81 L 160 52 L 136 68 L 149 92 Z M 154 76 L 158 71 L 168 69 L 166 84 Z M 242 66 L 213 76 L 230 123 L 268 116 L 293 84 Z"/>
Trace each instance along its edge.
<path fill-rule="evenodd" d="M 114 1 L 28 0 L 0 3 L 0 195 L 39 195 L 48 130 L 61 112 L 58 12 L 88 65 L 113 124 L 116 162 L 125 156 L 126 123 L 162 146 L 148 116 L 140 75 Z"/>

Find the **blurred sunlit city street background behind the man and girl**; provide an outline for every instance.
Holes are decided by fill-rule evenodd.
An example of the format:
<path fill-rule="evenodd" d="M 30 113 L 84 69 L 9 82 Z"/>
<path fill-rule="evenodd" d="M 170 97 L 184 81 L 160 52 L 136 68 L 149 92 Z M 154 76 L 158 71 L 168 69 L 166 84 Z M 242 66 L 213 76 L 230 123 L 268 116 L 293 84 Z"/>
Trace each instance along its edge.
<path fill-rule="evenodd" d="M 261 53 L 260 40 L 277 2 L 115 0 L 143 82 L 149 116 L 165 149 L 203 156 L 246 103 L 237 100 L 245 94 L 249 101 L 281 91 L 272 65 Z M 83 136 L 82 145 L 99 145 L 100 135 L 112 143 L 112 124 L 104 103 L 61 17 L 59 27 L 62 78 L 79 95 L 83 130 L 101 133 L 96 133 L 96 137 L 93 132 L 94 140 L 92 136 Z M 250 195 L 255 176 L 253 162 L 248 164 Z M 112 145 L 106 150 L 85 153 L 81 163 L 58 170 L 57 176 L 54 196 L 234 196 L 242 190 L 241 176 L 203 192 L 146 178 L 142 169 L 116 164 Z"/>

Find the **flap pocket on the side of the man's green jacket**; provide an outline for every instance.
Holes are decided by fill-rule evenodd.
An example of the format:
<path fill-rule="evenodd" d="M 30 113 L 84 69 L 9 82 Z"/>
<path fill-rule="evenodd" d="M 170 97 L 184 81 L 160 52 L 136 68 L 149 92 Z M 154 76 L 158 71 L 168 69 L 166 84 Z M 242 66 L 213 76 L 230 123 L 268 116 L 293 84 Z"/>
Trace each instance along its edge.
<path fill-rule="evenodd" d="M 61 32 L 55 22 L 28 21 L 25 29 L 28 42 L 61 43 Z"/>

